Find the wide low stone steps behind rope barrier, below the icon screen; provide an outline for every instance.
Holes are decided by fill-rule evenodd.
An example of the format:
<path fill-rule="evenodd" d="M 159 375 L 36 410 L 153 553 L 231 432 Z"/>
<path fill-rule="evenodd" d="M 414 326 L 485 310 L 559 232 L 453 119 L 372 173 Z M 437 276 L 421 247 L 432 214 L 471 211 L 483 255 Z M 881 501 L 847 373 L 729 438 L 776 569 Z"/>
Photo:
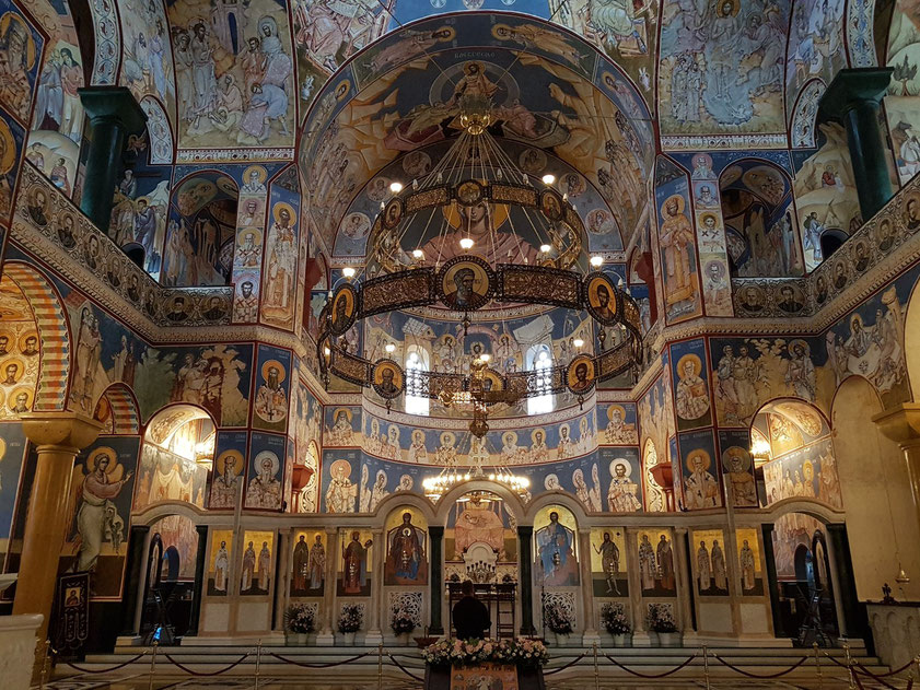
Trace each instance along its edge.
<path fill-rule="evenodd" d="M 376 686 L 379 648 L 376 646 L 283 646 L 280 640 L 272 639 L 261 642 L 257 640 L 251 644 L 216 644 L 207 639 L 187 640 L 182 646 L 158 647 L 154 675 L 158 678 L 199 678 L 201 687 L 220 685 L 220 679 L 230 681 L 254 680 L 258 673 L 263 679 L 284 679 L 289 677 L 304 678 L 308 675 L 311 683 L 331 682 L 337 687 L 370 688 Z M 143 656 L 123 668 L 114 667 L 125 664 L 138 654 Z M 715 687 L 770 687 L 770 688 L 817 688 L 817 668 L 812 650 L 762 646 L 708 646 L 708 674 Z M 616 659 L 629 670 L 645 676 L 665 674 L 691 655 L 697 655 L 687 666 L 668 676 L 666 679 L 651 681 L 631 675 L 616 666 L 607 656 Z M 850 654 L 854 663 L 861 664 L 873 674 L 888 670 L 876 657 L 870 656 L 862 641 L 850 641 Z M 244 657 L 245 655 L 245 657 Z M 361 658 L 353 657 L 362 655 Z M 392 655 L 392 656 L 391 656 Z M 594 683 L 594 648 L 593 647 L 550 647 L 551 659 L 546 670 L 549 671 L 547 682 L 552 688 L 593 687 Z M 827 655 L 827 656 L 825 656 Z M 758 677 L 780 673 L 790 668 L 796 662 L 806 657 L 795 670 L 783 676 L 781 682 L 767 682 L 767 679 L 748 678 L 736 670 L 732 670 L 720 663 L 715 656 L 729 664 Z M 846 664 L 846 652 L 841 647 L 824 648 L 819 651 L 820 671 L 824 687 L 848 687 L 847 669 L 834 664 L 828 656 L 840 664 Z M 150 675 L 153 650 L 151 647 L 118 646 L 112 654 L 92 655 L 79 664 L 80 671 L 58 665 L 55 677 L 75 677 L 88 671 L 95 679 L 110 678 L 147 678 Z M 403 666 L 400 669 L 396 662 Z M 556 674 L 551 671 L 572 664 Z M 702 647 L 607 647 L 597 648 L 598 678 L 603 679 L 603 687 L 700 687 L 699 680 L 706 676 L 702 658 Z M 100 671 L 108 673 L 100 674 Z M 217 671 L 226 669 L 217 676 Z M 82 674 L 81 674 L 82 671 Z M 408 673 L 407 673 L 408 671 Z M 200 674 L 200 676 L 196 676 Z M 414 687 L 418 685 L 408 674 L 419 678 L 424 675 L 424 664 L 418 650 L 400 646 L 384 646 L 381 674 L 385 687 Z M 85 677 L 85 676 L 84 676 Z M 207 678 L 207 681 L 206 681 Z M 691 685 L 688 681 L 696 679 Z M 672 682 L 673 681 L 673 682 Z M 610 686 L 615 682 L 615 686 Z M 572 685 L 574 683 L 574 685 Z M 630 683 L 634 683 L 630 685 Z M 664 683 L 664 685 L 662 685 Z M 793 685 L 788 685 L 793 683 Z M 842 685 L 841 685 L 842 683 Z M 863 685 L 880 687 L 863 678 Z M 904 683 L 900 683 L 902 687 Z M 228 686 L 229 687 L 229 686 Z"/>

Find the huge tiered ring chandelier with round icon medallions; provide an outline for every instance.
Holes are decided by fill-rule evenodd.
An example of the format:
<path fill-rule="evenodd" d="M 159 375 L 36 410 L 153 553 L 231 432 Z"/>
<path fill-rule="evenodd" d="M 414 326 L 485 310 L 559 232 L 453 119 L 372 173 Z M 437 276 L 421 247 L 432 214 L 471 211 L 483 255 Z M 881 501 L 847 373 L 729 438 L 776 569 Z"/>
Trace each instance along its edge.
<path fill-rule="evenodd" d="M 393 198 L 381 203 L 370 278 L 330 293 L 319 317 L 317 353 L 325 385 L 335 374 L 372 388 L 389 410 L 406 391 L 406 372 L 388 356 L 372 362 L 349 352 L 345 334 L 360 319 L 436 305 L 461 316 L 466 332 L 476 313 L 493 302 L 587 311 L 602 327 L 596 354 L 582 353 L 539 371 L 501 373 L 487 356 L 474 362 L 469 374 L 412 370 L 411 395 L 445 407 L 471 404 L 469 432 L 481 440 L 489 429 L 488 410 L 498 402 L 568 390 L 581 405 L 597 382 L 630 370 L 634 374 L 642 355 L 641 319 L 621 281 L 579 265 L 581 218 L 552 180 L 537 187 L 501 150 L 488 131 L 488 100 L 467 97 L 462 106 L 457 120 L 463 131 L 438 165 L 405 189 L 397 185 Z M 498 212 L 496 207 L 506 219 L 526 222 L 539 249 L 514 244 L 493 222 L 480 223 Z M 405 246 L 407 230 L 419 226 L 415 248 Z M 519 236 L 521 227 L 513 230 L 511 236 Z M 602 264 L 601 257 L 591 260 L 594 269 Z M 605 327 L 618 329 L 614 342 L 606 342 Z"/>

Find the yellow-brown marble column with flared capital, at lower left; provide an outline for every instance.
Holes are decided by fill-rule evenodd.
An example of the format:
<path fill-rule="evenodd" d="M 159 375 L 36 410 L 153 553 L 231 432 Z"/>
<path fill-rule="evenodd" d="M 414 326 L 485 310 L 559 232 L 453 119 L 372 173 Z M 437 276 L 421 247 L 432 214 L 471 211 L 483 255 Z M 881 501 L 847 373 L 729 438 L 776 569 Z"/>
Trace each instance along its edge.
<path fill-rule="evenodd" d="M 73 460 L 96 440 L 102 424 L 75 412 L 27 412 L 20 419 L 36 446 L 38 461 L 26 508 L 13 613 L 42 613 L 38 639 L 44 641 L 67 526 Z"/>

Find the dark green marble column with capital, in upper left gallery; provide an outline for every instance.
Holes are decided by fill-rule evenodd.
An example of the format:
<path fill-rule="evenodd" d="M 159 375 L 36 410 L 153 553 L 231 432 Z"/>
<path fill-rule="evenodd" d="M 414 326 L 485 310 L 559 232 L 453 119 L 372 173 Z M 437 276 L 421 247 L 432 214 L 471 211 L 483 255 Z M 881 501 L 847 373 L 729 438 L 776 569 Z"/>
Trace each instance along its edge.
<path fill-rule="evenodd" d="M 147 115 L 125 86 L 86 86 L 78 93 L 92 128 L 84 140 L 86 172 L 80 210 L 107 232 L 125 139 L 144 126 Z"/>

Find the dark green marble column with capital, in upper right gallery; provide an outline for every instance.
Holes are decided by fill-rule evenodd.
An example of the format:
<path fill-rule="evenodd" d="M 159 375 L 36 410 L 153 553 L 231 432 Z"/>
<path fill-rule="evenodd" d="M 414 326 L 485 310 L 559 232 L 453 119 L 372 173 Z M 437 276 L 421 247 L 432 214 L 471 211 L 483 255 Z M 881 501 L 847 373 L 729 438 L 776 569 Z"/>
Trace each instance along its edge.
<path fill-rule="evenodd" d="M 847 129 L 847 144 L 864 221 L 875 215 L 892 198 L 878 108 L 893 71 L 890 67 L 840 70 L 820 101 L 818 120 L 839 120 Z"/>

